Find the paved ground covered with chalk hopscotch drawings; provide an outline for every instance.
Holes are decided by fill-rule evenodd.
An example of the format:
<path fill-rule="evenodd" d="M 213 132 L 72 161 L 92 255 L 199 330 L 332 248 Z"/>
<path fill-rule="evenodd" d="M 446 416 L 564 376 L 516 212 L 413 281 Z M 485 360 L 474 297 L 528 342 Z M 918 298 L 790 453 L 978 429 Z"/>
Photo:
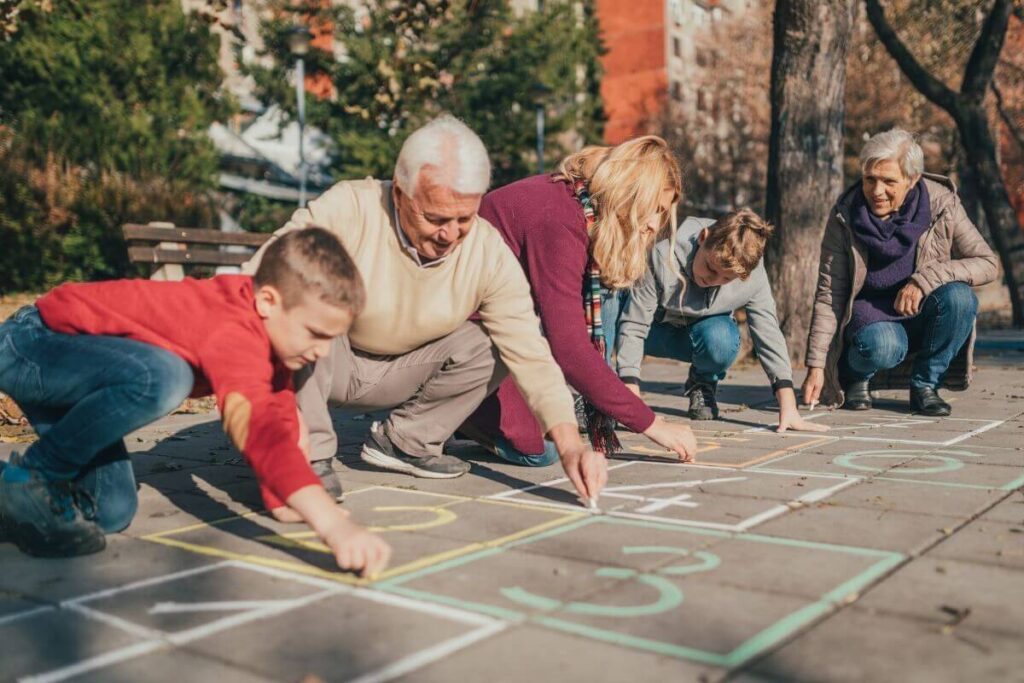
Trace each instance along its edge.
<path fill-rule="evenodd" d="M 106 551 L 0 544 L 0 679 L 1021 681 L 1022 355 L 982 358 L 951 418 L 893 393 L 816 411 L 824 435 L 771 431 L 744 368 L 698 464 L 624 434 L 600 514 L 468 444 L 460 479 L 372 471 L 338 414 L 345 506 L 394 548 L 372 584 L 253 512 L 214 415 L 171 416 L 129 438 L 141 509 Z M 645 368 L 670 420 L 683 368 Z"/>

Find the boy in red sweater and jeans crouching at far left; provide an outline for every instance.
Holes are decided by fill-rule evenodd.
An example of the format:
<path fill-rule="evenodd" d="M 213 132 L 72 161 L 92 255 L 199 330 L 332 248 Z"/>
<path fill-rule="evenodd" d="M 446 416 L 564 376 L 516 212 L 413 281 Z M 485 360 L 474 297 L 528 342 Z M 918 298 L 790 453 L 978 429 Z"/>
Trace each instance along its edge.
<path fill-rule="evenodd" d="M 292 386 L 365 299 L 344 247 L 311 227 L 275 242 L 252 278 L 65 285 L 22 308 L 0 326 L 0 391 L 39 440 L 0 470 L 0 530 L 33 555 L 102 550 L 137 507 L 122 437 L 212 392 L 274 516 L 306 521 L 342 568 L 380 570 L 387 544 L 309 467 Z"/>

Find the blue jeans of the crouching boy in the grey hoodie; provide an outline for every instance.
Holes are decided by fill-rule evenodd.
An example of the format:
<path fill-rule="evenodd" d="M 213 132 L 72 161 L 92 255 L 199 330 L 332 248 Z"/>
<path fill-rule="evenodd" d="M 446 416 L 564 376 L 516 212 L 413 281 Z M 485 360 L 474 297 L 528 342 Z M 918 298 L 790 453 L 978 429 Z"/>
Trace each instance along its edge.
<path fill-rule="evenodd" d="M 701 317 L 686 327 L 655 323 L 643 351 L 688 362 L 693 383 L 715 385 L 725 379 L 739 353 L 739 326 L 728 313 Z"/>

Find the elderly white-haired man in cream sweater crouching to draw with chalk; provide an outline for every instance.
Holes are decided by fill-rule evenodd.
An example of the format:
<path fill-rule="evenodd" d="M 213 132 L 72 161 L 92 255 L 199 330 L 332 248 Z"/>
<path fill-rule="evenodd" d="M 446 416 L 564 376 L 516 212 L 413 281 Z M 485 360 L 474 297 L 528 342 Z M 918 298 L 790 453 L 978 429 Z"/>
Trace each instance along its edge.
<path fill-rule="evenodd" d="M 372 426 L 365 462 L 456 477 L 469 464 L 442 445 L 508 373 L 581 496 L 596 498 L 607 480 L 603 456 L 580 437 L 572 397 L 541 334 L 522 268 L 477 215 L 489 183 L 479 137 L 442 116 L 406 140 L 393 181 L 339 182 L 274 233 L 327 227 L 352 255 L 367 288 L 366 308 L 348 336 L 335 340 L 311 376 L 297 377 L 310 460 L 332 493 L 340 496 L 341 485 L 330 467 L 338 439 L 329 403 L 391 409 Z M 478 322 L 469 319 L 474 312 Z"/>

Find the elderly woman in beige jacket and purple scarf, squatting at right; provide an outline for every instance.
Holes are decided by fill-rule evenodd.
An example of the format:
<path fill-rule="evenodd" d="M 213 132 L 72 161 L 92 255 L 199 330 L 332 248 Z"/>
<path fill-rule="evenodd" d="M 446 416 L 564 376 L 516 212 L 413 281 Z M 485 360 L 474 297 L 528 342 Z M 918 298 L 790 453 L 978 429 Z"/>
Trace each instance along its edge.
<path fill-rule="evenodd" d="M 949 415 L 938 389 L 974 331 L 971 288 L 994 280 L 996 260 L 953 183 L 924 165 L 921 145 L 899 128 L 860 153 L 863 178 L 839 198 L 821 242 L 807 402 L 868 410 L 871 377 L 915 351 L 910 409 Z"/>

